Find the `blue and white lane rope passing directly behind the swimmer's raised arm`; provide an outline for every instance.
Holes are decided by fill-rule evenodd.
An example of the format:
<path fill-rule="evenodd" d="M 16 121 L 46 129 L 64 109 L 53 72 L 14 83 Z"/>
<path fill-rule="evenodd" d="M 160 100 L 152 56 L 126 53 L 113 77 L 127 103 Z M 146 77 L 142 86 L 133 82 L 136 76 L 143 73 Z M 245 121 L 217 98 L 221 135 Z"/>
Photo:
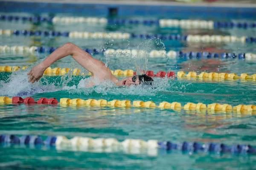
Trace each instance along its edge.
<path fill-rule="evenodd" d="M 17 52 L 17 53 L 25 53 L 25 52 L 39 52 L 39 53 L 52 53 L 58 47 L 44 47 L 44 46 L 0 46 L 0 52 Z M 91 55 L 96 54 L 104 54 L 104 55 L 145 55 L 147 54 L 144 50 L 137 50 L 137 49 L 83 49 L 84 51 L 88 52 Z M 182 52 L 182 51 L 165 51 L 165 50 L 152 50 L 148 53 L 150 58 L 171 58 L 171 59 L 209 59 L 209 58 L 219 58 L 219 59 L 241 59 L 241 60 L 256 60 L 256 54 L 253 53 L 239 53 L 235 54 L 232 52 L 222 52 L 222 53 L 210 53 L 210 52 Z"/>

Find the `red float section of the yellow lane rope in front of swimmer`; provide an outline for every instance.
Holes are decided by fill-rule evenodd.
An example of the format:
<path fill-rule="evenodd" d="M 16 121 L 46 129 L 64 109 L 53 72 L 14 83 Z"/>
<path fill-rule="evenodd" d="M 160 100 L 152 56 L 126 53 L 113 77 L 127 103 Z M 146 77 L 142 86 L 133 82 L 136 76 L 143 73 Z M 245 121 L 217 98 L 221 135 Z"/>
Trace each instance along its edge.
<path fill-rule="evenodd" d="M 26 97 L 22 98 L 19 96 L 14 96 L 12 97 L 12 103 L 19 104 L 19 103 L 24 103 L 24 104 L 58 104 L 58 101 L 56 98 L 40 98 L 38 101 L 35 101 L 34 98 L 32 97 Z"/>

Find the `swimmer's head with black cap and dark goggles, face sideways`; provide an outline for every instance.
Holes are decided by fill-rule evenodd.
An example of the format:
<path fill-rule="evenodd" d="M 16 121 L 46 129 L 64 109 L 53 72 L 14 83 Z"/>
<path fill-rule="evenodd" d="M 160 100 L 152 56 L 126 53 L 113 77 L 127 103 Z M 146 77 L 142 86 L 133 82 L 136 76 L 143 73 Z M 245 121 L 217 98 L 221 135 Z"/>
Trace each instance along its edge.
<path fill-rule="evenodd" d="M 119 85 L 131 86 L 131 85 L 152 85 L 153 78 L 148 75 L 134 75 L 131 77 L 124 78 L 119 81 Z"/>

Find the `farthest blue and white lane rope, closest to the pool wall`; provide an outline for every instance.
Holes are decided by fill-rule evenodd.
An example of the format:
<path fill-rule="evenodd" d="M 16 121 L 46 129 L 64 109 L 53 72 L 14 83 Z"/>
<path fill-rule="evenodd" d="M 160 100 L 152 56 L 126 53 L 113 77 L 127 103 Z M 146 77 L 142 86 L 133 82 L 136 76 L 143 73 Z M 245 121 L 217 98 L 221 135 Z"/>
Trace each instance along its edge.
<path fill-rule="evenodd" d="M 158 25 L 160 27 L 180 27 L 183 29 L 220 29 L 220 28 L 256 28 L 253 22 L 221 22 L 212 20 L 176 20 L 176 19 L 155 19 L 155 20 L 134 20 L 134 19 L 111 19 L 105 17 L 44 17 L 44 16 L 13 16 L 0 15 L 0 20 L 8 21 L 31 21 L 31 22 L 52 22 L 52 23 L 100 23 L 100 24 L 144 24 Z"/>

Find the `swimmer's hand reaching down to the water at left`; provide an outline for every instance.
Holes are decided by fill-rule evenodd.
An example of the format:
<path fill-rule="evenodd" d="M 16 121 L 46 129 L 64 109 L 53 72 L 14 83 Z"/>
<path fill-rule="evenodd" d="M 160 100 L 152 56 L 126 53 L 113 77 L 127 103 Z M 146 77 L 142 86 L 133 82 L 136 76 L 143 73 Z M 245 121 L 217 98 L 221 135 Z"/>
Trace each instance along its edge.
<path fill-rule="evenodd" d="M 44 70 L 45 68 L 41 63 L 34 66 L 27 74 L 29 76 L 29 83 L 35 83 L 35 81 L 38 82 L 38 80 L 44 75 Z"/>

